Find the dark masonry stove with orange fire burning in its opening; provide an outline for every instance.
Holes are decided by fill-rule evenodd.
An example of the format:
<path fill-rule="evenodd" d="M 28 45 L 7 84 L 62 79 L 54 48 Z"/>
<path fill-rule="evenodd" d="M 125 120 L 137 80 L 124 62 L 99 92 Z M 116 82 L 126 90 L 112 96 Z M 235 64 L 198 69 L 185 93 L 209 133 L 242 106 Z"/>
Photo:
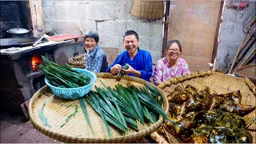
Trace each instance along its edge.
<path fill-rule="evenodd" d="M 85 52 L 83 47 L 83 42 L 75 42 L 73 39 L 65 42 L 42 43 L 34 48 L 10 48 L 10 51 L 16 50 L 16 52 L 1 53 L 1 110 L 21 113 L 20 105 L 45 85 L 44 74 L 38 69 L 38 65 L 42 62 L 41 55 L 65 65 L 74 54 L 83 54 Z"/>

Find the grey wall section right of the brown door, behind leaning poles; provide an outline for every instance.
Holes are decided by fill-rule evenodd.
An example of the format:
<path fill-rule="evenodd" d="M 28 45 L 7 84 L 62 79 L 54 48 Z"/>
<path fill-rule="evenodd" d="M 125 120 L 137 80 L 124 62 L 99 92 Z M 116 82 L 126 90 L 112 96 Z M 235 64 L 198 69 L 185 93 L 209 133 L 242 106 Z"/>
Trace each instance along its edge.
<path fill-rule="evenodd" d="M 234 56 L 237 53 L 238 47 L 245 35 L 243 32 L 244 23 L 251 14 L 256 14 L 255 7 L 255 1 L 250 1 L 249 6 L 244 11 L 230 9 L 226 6 L 224 7 L 216 56 L 216 69 L 224 72 L 228 72 L 230 69 Z"/>

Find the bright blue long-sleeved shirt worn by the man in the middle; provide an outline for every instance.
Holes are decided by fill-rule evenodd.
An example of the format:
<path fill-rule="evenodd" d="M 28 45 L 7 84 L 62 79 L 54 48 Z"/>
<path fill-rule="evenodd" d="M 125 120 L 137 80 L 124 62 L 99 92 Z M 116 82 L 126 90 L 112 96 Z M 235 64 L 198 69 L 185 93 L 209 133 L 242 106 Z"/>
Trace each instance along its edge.
<path fill-rule="evenodd" d="M 126 63 L 132 66 L 135 70 L 140 71 L 142 74 L 142 78 L 150 82 L 150 77 L 152 75 L 152 58 L 150 52 L 146 50 L 140 50 L 138 48 L 138 53 L 135 55 L 134 59 L 131 60 L 128 51 L 125 50 L 121 54 L 119 54 L 118 58 L 115 59 L 113 64 L 107 68 L 107 72 L 110 72 L 110 68 L 116 64 L 124 66 Z M 136 75 L 134 74 L 128 75 L 136 77 Z"/>

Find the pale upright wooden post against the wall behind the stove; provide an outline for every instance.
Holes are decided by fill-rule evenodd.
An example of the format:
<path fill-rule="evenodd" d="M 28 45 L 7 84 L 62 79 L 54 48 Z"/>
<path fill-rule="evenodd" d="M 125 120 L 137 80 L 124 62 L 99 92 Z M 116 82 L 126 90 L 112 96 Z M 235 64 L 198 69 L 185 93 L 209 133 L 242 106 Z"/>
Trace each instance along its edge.
<path fill-rule="evenodd" d="M 42 19 L 42 0 L 29 0 L 34 37 L 42 37 L 45 28 Z"/>

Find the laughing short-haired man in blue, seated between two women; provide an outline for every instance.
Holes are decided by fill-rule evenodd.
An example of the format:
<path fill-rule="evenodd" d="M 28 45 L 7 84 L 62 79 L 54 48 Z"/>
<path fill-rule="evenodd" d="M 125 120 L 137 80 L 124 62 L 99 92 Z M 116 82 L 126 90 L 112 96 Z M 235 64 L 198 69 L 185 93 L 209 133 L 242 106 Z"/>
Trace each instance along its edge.
<path fill-rule="evenodd" d="M 148 51 L 141 50 L 138 47 L 138 34 L 134 30 L 126 31 L 123 44 L 126 48 L 118 58 L 107 68 L 111 74 L 119 74 L 121 71 L 124 74 L 143 78 L 150 82 L 152 74 L 152 58 Z M 127 70 L 122 69 L 122 66 L 128 64 Z"/>

